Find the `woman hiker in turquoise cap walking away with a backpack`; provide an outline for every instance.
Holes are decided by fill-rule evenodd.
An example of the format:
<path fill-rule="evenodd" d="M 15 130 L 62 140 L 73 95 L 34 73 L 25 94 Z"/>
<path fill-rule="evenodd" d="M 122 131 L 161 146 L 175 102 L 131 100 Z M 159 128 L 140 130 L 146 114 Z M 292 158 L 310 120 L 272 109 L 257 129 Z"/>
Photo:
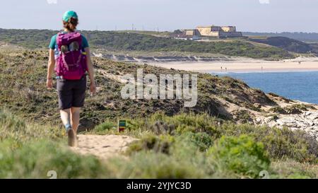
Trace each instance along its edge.
<path fill-rule="evenodd" d="M 86 72 L 90 78 L 91 93 L 95 94 L 96 86 L 88 41 L 76 32 L 76 12 L 64 13 L 63 25 L 64 31 L 54 35 L 49 44 L 47 88 L 52 88 L 55 71 L 61 121 L 69 137 L 69 146 L 76 146 L 80 110 L 86 96 Z"/>

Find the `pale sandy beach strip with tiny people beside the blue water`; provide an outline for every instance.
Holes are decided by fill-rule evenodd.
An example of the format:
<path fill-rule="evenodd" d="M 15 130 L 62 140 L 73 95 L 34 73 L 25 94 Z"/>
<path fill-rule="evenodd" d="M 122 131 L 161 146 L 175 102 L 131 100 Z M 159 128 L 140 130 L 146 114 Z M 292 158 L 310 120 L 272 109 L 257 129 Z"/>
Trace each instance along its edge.
<path fill-rule="evenodd" d="M 288 72 L 288 71 L 318 71 L 317 57 L 299 57 L 282 61 L 263 61 L 257 59 L 236 59 L 233 61 L 216 62 L 168 62 L 153 63 L 167 69 L 209 73 L 246 73 L 246 72 Z"/>

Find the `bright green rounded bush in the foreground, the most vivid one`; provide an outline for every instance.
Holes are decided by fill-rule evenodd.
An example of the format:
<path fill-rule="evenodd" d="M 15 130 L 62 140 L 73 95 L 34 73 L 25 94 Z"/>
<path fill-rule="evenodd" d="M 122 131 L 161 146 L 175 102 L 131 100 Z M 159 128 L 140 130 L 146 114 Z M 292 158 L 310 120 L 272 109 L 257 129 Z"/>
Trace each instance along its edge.
<path fill-rule="evenodd" d="M 211 162 L 218 170 L 230 170 L 246 177 L 258 177 L 261 170 L 269 169 L 269 158 L 264 146 L 249 136 L 223 136 L 208 150 Z"/>

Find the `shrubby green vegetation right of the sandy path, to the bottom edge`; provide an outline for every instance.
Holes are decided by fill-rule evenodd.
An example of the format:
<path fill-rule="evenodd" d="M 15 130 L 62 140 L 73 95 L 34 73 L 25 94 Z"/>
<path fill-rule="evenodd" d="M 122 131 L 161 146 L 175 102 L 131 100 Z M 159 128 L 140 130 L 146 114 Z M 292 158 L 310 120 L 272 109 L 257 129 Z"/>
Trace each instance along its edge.
<path fill-rule="evenodd" d="M 318 177 L 318 143 L 302 131 L 222 122 L 205 114 L 156 114 L 127 122 L 124 134 L 141 140 L 126 151 L 130 160 L 115 162 L 122 169 L 115 172 L 119 177 L 260 178 L 261 171 L 271 178 Z M 108 127 L 113 124 L 106 122 L 90 133 L 118 134 Z"/>

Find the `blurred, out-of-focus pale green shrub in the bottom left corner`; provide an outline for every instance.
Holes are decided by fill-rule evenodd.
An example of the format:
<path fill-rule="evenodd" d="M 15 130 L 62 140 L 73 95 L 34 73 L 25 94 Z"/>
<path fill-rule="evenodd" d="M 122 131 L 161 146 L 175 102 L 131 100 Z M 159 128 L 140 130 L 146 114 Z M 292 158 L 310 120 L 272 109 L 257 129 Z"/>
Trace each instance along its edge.
<path fill-rule="evenodd" d="M 97 158 L 79 156 L 57 143 L 37 141 L 11 150 L 11 141 L 0 143 L 0 178 L 97 178 L 109 174 Z"/>

